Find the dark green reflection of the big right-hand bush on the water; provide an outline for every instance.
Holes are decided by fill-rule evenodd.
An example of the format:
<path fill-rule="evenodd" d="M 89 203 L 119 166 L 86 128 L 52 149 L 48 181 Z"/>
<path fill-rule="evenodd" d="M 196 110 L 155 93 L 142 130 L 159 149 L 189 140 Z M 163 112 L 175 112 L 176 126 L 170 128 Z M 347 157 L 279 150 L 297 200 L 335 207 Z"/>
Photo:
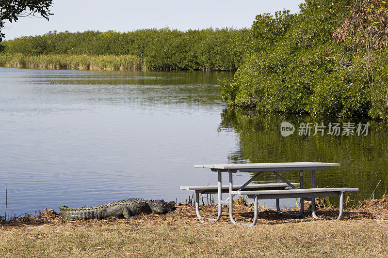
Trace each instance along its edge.
<path fill-rule="evenodd" d="M 317 171 L 317 187 L 358 187 L 360 191 L 352 194 L 352 198 L 363 199 L 382 197 L 387 190 L 388 182 L 388 131 L 387 124 L 356 119 L 327 120 L 296 115 L 262 115 L 253 111 L 240 109 L 224 109 L 219 125 L 221 132 L 233 131 L 239 136 L 239 150 L 229 154 L 231 163 L 239 162 L 331 162 L 340 163 L 340 167 L 325 168 Z M 296 127 L 294 134 L 283 137 L 280 124 L 288 121 Z M 302 122 L 369 122 L 367 136 L 299 136 L 298 126 Z M 284 177 L 294 182 L 299 181 L 299 174 L 283 172 Z M 307 175 L 309 173 L 307 172 Z M 262 182 L 277 182 L 271 174 L 263 175 Z M 306 187 L 311 182 L 305 182 Z"/>

